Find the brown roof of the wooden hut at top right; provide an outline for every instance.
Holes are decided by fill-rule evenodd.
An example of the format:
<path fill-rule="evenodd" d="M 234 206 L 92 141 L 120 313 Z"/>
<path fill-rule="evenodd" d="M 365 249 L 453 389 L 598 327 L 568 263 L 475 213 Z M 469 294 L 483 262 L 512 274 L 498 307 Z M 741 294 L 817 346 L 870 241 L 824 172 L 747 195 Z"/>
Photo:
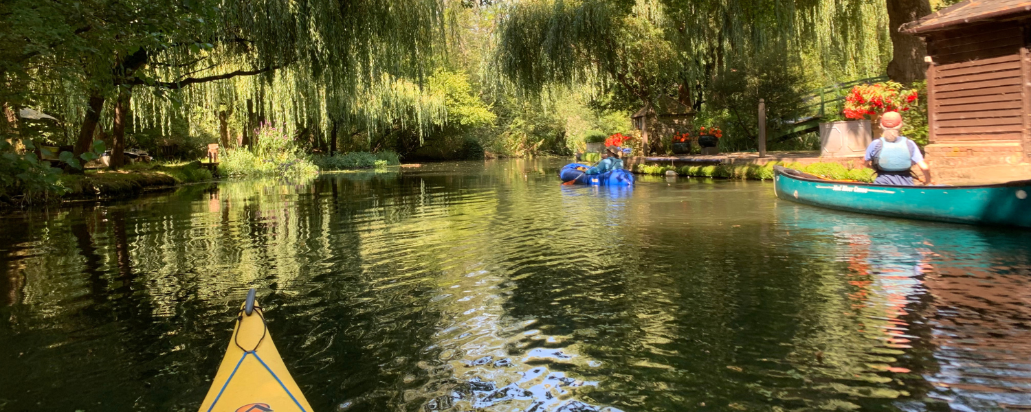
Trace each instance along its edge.
<path fill-rule="evenodd" d="M 966 0 L 899 28 L 900 31 L 922 35 L 953 29 L 968 23 L 1002 21 L 1031 15 L 1031 1 L 1027 0 Z"/>

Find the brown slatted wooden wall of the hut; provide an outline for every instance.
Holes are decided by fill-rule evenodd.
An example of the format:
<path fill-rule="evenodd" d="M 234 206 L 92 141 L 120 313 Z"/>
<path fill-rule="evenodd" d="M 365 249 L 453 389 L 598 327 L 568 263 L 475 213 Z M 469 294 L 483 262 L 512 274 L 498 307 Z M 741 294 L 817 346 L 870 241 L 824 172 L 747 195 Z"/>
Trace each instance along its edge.
<path fill-rule="evenodd" d="M 934 61 L 927 73 L 932 143 L 1031 138 L 1026 23 L 978 25 L 927 37 Z"/>

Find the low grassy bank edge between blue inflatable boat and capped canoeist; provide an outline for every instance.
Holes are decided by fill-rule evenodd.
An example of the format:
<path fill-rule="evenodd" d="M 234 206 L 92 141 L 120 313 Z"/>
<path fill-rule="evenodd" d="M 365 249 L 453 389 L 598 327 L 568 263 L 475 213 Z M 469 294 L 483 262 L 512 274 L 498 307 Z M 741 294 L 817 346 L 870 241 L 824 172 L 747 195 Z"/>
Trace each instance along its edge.
<path fill-rule="evenodd" d="M 802 165 L 799 163 L 778 163 L 770 162 L 765 165 L 712 165 L 712 166 L 647 166 L 637 165 L 634 173 L 664 175 L 672 170 L 681 176 L 698 177 L 720 177 L 726 179 L 755 179 L 766 180 L 773 178 L 773 166 L 780 165 L 787 168 L 800 170 L 818 176 L 836 180 L 873 181 L 872 169 L 859 168 L 846 169 L 838 163 L 813 163 Z"/>

